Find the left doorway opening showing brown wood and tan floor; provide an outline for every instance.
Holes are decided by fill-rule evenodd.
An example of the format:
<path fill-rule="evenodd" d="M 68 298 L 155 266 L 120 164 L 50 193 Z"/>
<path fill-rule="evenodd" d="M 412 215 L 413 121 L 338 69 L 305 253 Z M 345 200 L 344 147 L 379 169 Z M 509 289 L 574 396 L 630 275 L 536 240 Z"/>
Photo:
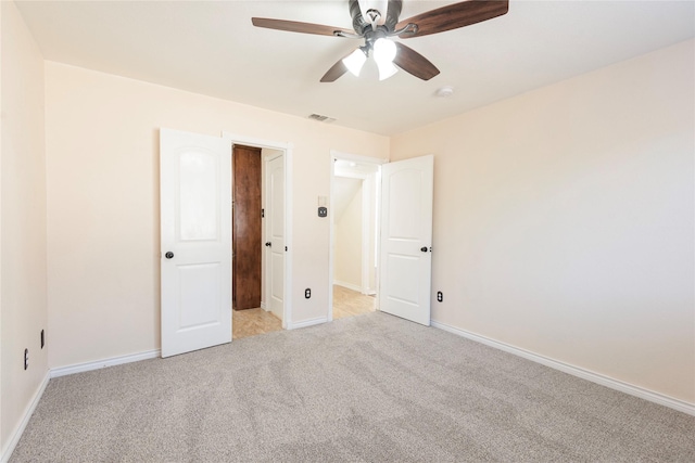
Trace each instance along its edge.
<path fill-rule="evenodd" d="M 232 337 L 291 326 L 286 295 L 290 146 L 231 139 L 232 151 Z"/>

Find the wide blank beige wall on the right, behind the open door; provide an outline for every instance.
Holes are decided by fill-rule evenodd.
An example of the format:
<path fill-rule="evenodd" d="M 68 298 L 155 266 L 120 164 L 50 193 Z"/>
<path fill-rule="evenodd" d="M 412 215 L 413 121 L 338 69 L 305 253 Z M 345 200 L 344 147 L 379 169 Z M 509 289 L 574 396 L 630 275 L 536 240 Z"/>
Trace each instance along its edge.
<path fill-rule="evenodd" d="M 392 138 L 435 155 L 433 320 L 695 402 L 694 55 Z"/>

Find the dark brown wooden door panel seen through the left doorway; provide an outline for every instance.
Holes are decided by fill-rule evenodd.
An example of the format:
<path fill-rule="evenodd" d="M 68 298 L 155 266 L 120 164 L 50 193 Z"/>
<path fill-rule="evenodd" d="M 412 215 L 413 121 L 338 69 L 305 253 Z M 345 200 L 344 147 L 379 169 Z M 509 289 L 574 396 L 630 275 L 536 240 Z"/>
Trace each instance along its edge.
<path fill-rule="evenodd" d="M 261 307 L 261 149 L 233 145 L 232 305 Z"/>

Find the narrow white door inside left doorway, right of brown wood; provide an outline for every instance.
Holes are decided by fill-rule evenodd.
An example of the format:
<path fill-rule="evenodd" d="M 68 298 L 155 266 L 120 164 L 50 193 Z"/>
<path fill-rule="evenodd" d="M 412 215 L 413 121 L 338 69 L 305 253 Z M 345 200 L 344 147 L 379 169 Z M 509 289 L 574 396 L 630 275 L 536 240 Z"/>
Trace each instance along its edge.
<path fill-rule="evenodd" d="M 266 160 L 266 284 L 270 311 L 283 320 L 285 300 L 285 159 Z"/>

